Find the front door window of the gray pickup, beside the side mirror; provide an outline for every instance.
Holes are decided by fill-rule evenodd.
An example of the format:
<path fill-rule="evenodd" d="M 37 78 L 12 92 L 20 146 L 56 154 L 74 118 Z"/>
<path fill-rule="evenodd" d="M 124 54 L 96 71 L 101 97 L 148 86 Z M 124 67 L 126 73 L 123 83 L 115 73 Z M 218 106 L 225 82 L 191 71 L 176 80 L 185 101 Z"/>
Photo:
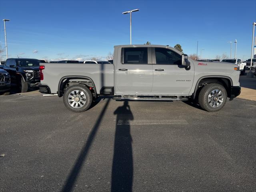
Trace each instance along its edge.
<path fill-rule="evenodd" d="M 155 48 L 156 64 L 180 65 L 181 55 L 166 48 Z"/>

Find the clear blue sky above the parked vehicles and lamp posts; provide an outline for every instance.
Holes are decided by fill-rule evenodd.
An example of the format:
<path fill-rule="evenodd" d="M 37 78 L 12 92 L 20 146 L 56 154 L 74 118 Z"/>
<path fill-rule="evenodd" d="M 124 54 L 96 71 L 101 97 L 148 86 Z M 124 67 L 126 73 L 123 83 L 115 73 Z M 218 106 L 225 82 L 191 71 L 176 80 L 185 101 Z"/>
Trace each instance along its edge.
<path fill-rule="evenodd" d="M 237 39 L 237 57 L 250 57 L 256 0 L 0 0 L 0 45 L 5 47 L 2 19 L 10 19 L 9 58 L 104 59 L 114 45 L 130 44 L 130 18 L 122 12 L 136 8 L 132 44 L 181 44 L 193 54 L 198 41 L 198 55 L 204 49 L 202 58 L 215 58 L 230 56 L 227 42 Z"/>

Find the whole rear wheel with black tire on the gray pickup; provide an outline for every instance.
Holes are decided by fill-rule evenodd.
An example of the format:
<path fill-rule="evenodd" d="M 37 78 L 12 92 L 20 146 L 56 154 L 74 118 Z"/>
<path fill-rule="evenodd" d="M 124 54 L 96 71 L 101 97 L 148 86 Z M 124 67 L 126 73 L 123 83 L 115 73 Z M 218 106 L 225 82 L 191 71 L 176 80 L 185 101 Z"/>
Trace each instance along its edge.
<path fill-rule="evenodd" d="M 77 92 L 78 91 L 78 92 Z M 75 92 L 75 94 L 74 94 Z M 80 94 L 79 94 L 80 92 Z M 73 93 L 73 95 L 72 95 Z M 84 96 L 83 96 L 83 94 Z M 74 96 L 75 98 L 78 98 L 78 101 L 73 99 L 72 101 L 68 101 L 70 96 Z M 85 98 L 84 98 L 85 97 Z M 84 112 L 88 110 L 88 108 L 92 104 L 92 92 L 84 85 L 73 85 L 70 86 L 63 95 L 63 102 L 68 108 L 68 110 L 72 112 Z M 72 106 L 71 106 L 72 105 Z M 78 107 L 78 108 L 76 108 Z"/>

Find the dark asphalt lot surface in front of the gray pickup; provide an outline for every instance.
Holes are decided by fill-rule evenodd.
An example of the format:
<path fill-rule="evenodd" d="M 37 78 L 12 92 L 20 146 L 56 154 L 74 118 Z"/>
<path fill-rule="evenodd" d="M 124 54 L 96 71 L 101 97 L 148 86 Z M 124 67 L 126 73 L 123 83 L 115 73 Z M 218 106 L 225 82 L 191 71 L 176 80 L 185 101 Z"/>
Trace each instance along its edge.
<path fill-rule="evenodd" d="M 100 100 L 83 113 L 38 92 L 0 96 L 0 191 L 254 191 L 256 102 Z"/>

